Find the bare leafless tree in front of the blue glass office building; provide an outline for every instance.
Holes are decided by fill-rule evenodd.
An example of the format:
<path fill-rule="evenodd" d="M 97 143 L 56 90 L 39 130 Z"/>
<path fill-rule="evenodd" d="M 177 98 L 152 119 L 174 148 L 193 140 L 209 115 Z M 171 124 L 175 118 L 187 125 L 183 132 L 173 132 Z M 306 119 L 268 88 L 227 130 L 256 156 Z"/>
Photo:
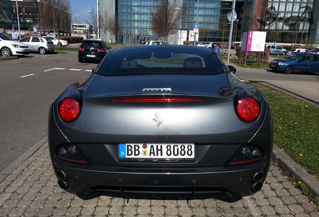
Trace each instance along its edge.
<path fill-rule="evenodd" d="M 169 34 L 173 34 L 179 29 L 179 21 L 186 12 L 187 7 L 177 10 L 178 0 L 157 0 L 157 7 L 150 13 L 152 30 L 158 37 L 167 39 Z"/>

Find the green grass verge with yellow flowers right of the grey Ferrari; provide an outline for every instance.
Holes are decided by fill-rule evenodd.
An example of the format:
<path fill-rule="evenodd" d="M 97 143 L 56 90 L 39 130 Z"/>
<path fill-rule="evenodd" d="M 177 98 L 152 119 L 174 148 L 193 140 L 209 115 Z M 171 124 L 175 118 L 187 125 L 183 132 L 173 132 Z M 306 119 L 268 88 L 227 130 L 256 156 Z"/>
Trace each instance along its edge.
<path fill-rule="evenodd" d="M 319 180 L 319 106 L 254 83 L 270 101 L 275 145 Z"/>

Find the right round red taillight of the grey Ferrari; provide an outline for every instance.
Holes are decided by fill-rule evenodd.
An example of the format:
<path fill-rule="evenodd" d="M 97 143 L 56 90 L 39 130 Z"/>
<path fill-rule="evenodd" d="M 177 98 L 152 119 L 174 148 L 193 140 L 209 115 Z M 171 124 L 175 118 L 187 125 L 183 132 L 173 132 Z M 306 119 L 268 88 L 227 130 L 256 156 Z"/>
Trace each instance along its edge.
<path fill-rule="evenodd" d="M 247 97 L 238 101 L 237 114 L 244 121 L 253 121 L 259 116 L 260 106 L 255 98 Z"/>

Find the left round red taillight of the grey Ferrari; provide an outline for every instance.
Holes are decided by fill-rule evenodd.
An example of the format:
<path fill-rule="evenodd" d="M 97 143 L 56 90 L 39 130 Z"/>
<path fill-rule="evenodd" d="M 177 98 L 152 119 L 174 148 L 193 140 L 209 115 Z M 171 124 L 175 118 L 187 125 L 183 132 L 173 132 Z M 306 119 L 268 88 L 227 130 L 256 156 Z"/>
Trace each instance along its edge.
<path fill-rule="evenodd" d="M 80 113 L 80 105 L 75 99 L 65 98 L 60 103 L 59 114 L 64 121 L 75 120 Z"/>

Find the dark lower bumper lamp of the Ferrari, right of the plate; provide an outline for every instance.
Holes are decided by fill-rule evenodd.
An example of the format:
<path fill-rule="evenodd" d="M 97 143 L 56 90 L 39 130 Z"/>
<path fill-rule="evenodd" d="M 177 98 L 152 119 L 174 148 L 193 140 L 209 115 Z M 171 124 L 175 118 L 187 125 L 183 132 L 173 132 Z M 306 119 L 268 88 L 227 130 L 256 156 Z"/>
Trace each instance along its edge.
<path fill-rule="evenodd" d="M 231 160 L 229 165 L 252 163 L 263 158 L 262 149 L 256 145 L 244 145 L 243 148 Z"/>

